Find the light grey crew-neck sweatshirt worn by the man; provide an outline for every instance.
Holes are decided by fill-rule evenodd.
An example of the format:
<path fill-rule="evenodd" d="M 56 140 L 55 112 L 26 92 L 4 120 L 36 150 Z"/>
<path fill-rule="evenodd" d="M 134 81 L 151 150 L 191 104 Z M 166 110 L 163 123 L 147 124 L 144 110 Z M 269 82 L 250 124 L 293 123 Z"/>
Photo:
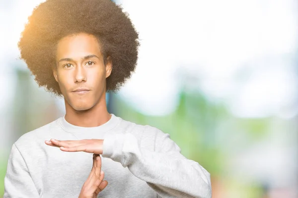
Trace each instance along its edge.
<path fill-rule="evenodd" d="M 77 198 L 92 168 L 92 153 L 65 152 L 45 140 L 103 139 L 108 186 L 98 198 L 211 198 L 210 174 L 187 159 L 165 134 L 112 114 L 98 127 L 65 117 L 22 135 L 10 151 L 4 198 Z"/>

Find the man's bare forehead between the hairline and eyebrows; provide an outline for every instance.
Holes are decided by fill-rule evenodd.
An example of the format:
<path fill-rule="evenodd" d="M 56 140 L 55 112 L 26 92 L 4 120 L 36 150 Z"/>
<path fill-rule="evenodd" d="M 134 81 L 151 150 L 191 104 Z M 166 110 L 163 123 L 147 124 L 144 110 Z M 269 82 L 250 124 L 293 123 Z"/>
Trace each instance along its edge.
<path fill-rule="evenodd" d="M 79 33 L 62 38 L 57 45 L 56 59 L 81 58 L 89 54 L 101 56 L 101 49 L 95 36 Z"/>

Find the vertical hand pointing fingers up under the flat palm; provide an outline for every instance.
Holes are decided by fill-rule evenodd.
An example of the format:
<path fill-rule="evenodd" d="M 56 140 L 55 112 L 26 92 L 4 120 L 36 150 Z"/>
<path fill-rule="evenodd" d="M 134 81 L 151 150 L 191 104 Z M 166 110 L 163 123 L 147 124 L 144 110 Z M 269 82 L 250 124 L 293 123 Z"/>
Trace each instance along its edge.
<path fill-rule="evenodd" d="M 89 177 L 85 181 L 78 198 L 97 198 L 97 195 L 108 185 L 102 181 L 104 172 L 101 171 L 101 158 L 98 154 L 93 154 L 93 166 Z"/>

